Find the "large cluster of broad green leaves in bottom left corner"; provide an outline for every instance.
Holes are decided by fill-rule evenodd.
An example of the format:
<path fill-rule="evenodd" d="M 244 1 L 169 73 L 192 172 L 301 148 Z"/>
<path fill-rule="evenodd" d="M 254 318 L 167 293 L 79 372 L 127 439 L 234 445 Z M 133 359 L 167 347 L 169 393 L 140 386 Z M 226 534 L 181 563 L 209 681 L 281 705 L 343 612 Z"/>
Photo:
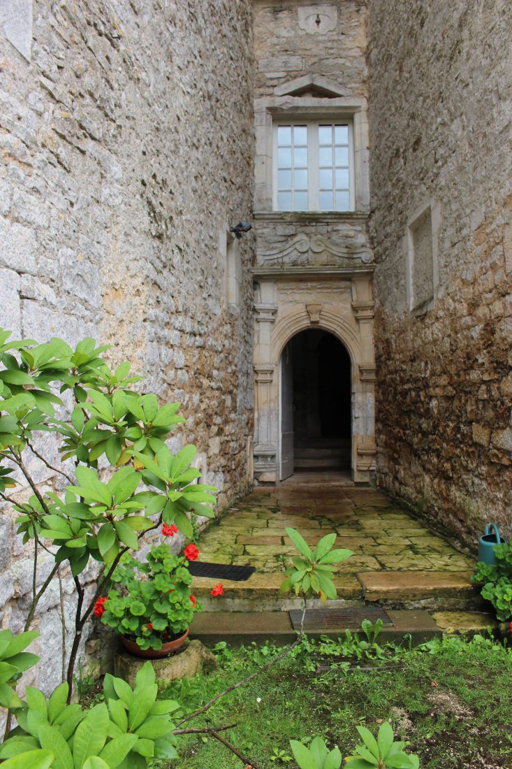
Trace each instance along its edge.
<path fill-rule="evenodd" d="M 155 671 L 146 662 L 135 688 L 107 674 L 105 702 L 82 710 L 66 704 L 68 684 L 47 700 L 27 687 L 26 702 L 15 711 L 18 727 L 0 747 L 7 769 L 145 769 L 153 758 L 176 757 L 173 700 L 157 701 Z"/>

